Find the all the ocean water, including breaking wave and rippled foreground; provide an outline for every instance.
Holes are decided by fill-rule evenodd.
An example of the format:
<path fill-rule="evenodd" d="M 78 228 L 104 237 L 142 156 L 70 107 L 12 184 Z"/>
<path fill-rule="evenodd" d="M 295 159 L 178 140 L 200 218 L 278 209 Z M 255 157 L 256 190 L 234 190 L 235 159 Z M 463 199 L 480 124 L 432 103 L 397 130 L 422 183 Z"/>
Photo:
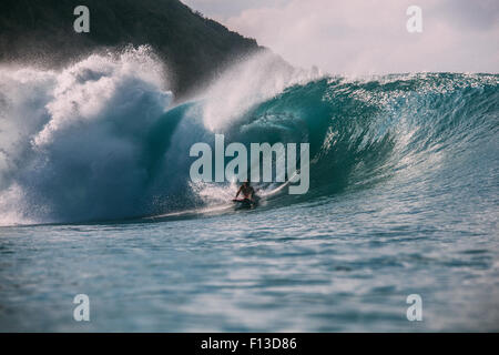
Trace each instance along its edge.
<path fill-rule="evenodd" d="M 499 75 L 258 57 L 176 104 L 144 48 L 0 72 L 0 331 L 499 329 Z M 308 193 L 192 183 L 215 133 L 308 142 Z"/>

